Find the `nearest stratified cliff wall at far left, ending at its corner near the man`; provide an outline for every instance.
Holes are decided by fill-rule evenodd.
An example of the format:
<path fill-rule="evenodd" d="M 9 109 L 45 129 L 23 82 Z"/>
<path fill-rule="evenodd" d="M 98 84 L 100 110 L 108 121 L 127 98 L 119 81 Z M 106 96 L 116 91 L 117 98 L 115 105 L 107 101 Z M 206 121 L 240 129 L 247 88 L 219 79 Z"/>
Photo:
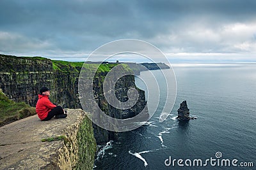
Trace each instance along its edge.
<path fill-rule="evenodd" d="M 53 83 L 52 61 L 0 55 L 0 89 L 13 101 L 35 106 L 42 85 Z"/>

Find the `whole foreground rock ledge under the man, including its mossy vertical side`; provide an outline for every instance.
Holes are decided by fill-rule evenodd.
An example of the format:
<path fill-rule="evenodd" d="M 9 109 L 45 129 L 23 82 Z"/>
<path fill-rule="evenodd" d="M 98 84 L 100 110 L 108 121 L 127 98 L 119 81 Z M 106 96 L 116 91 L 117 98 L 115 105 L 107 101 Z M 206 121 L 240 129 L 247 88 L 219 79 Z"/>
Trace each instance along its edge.
<path fill-rule="evenodd" d="M 82 110 L 67 111 L 65 119 L 35 115 L 0 127 L 0 169 L 92 169 L 92 122 Z"/>

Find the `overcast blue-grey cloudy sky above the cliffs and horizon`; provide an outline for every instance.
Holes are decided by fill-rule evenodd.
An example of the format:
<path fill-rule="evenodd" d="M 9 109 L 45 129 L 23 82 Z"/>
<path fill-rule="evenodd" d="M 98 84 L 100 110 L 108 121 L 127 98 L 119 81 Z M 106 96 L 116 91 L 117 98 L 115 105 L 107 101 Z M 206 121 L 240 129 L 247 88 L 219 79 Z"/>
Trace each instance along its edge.
<path fill-rule="evenodd" d="M 140 39 L 170 62 L 256 62 L 255 0 L 1 0 L 0 53 L 84 60 Z"/>

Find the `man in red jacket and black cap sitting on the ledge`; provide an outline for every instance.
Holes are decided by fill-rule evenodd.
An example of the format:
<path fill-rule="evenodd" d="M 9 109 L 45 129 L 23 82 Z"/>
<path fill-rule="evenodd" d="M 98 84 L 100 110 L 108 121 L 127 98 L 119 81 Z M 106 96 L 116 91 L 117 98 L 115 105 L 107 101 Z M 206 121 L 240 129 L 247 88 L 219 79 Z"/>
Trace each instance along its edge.
<path fill-rule="evenodd" d="M 61 106 L 56 106 L 49 100 L 50 89 L 47 87 L 42 87 L 40 89 L 40 94 L 38 94 L 38 101 L 36 103 L 36 113 L 42 121 L 51 120 L 52 117 L 55 118 L 66 118 L 67 114 L 64 113 Z"/>

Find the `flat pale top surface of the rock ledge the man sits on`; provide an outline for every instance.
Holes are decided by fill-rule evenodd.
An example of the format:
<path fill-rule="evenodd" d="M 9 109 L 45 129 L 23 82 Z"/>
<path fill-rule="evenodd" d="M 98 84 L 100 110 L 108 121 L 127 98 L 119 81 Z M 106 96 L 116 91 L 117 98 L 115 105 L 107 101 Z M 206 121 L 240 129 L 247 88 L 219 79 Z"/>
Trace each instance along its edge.
<path fill-rule="evenodd" d="M 63 141 L 42 142 L 61 136 L 64 129 L 85 116 L 82 110 L 67 110 L 67 118 L 41 121 L 37 115 L 0 127 L 0 169 L 44 169 Z"/>

